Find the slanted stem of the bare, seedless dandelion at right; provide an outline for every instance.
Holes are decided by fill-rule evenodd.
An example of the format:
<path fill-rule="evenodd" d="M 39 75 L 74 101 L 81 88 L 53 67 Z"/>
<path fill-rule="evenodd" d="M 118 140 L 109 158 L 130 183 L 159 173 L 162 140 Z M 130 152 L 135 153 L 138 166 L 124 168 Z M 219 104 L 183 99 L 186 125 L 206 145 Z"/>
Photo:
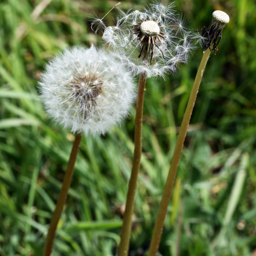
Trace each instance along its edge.
<path fill-rule="evenodd" d="M 198 93 L 198 89 L 200 86 L 200 82 L 202 80 L 202 76 L 204 73 L 204 69 L 206 66 L 206 63 L 208 61 L 208 58 L 210 56 L 210 49 L 208 48 L 206 50 L 206 52 L 203 54 L 202 60 L 200 62 L 200 66 L 198 68 L 198 71 L 196 73 L 196 78 L 194 80 L 194 84 L 190 93 L 190 97 L 188 100 L 188 105 L 182 120 L 182 124 L 180 127 L 180 132 L 177 138 L 177 142 L 176 142 L 176 146 L 174 149 L 174 153 L 172 156 L 172 161 L 171 161 L 171 165 L 170 165 L 170 170 L 169 170 L 169 174 L 166 180 L 166 184 L 164 186 L 164 192 L 162 194 L 162 199 L 160 202 L 160 206 L 159 206 L 159 210 L 158 210 L 158 215 L 156 217 L 156 222 L 155 222 L 155 226 L 154 226 L 154 230 L 153 230 L 153 234 L 152 234 L 152 238 L 151 238 L 151 243 L 150 243 L 150 248 L 149 248 L 149 253 L 148 256 L 156 256 L 157 252 L 158 252 L 158 248 L 159 248 L 159 243 L 160 243 L 160 239 L 162 236 L 162 230 L 164 227 L 164 219 L 166 217 L 166 213 L 167 213 L 167 208 L 168 208 L 168 204 L 170 202 L 170 198 L 172 195 L 172 190 L 173 190 L 173 186 L 174 186 L 174 180 L 176 177 L 176 172 L 178 169 L 178 164 L 179 164 L 179 160 L 180 160 L 180 155 L 181 155 L 181 150 L 184 144 L 184 140 L 186 137 L 186 133 L 188 130 L 188 124 L 190 121 L 190 117 L 192 114 L 192 110 L 196 101 L 196 96 Z"/>

